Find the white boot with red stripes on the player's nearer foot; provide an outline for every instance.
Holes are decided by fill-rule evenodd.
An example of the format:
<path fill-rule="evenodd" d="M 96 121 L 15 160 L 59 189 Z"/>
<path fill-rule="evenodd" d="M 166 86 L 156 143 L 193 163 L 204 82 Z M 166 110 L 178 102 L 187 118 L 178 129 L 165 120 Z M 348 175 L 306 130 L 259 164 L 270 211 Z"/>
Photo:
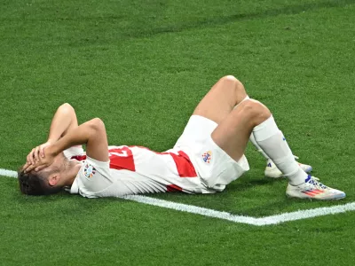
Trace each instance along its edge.
<path fill-rule="evenodd" d="M 314 176 L 307 176 L 304 184 L 292 185 L 288 183 L 286 195 L 290 198 L 314 200 L 340 200 L 345 193 L 321 184 Z"/>

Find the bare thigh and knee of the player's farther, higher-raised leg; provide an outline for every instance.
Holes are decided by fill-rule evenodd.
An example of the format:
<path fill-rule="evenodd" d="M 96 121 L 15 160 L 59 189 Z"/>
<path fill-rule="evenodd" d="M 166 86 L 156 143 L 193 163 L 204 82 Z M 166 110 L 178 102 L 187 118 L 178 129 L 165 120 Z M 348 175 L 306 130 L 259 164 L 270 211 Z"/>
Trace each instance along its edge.
<path fill-rule="evenodd" d="M 219 124 L 231 113 L 234 106 L 246 97 L 243 84 L 233 75 L 226 75 L 201 99 L 193 114 L 201 115 Z"/>

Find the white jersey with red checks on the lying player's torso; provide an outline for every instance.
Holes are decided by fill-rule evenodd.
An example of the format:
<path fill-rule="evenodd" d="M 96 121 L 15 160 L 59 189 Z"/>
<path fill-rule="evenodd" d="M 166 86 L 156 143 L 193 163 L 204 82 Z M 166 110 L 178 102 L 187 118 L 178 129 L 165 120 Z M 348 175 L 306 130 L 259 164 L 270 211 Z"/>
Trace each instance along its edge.
<path fill-rule="evenodd" d="M 87 198 L 121 197 L 150 192 L 210 193 L 201 184 L 189 156 L 171 149 L 155 153 L 140 146 L 109 146 L 109 161 L 86 156 L 83 149 L 65 151 L 83 163 L 70 189 Z"/>

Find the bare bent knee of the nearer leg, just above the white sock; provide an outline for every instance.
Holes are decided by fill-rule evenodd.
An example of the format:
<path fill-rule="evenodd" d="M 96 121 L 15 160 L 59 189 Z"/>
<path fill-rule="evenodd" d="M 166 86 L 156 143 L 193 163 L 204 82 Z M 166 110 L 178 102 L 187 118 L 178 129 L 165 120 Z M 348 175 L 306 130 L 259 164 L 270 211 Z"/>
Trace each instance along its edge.
<path fill-rule="evenodd" d="M 262 123 L 272 115 L 266 106 L 255 99 L 245 100 L 239 107 L 239 112 L 241 112 L 253 126 Z"/>

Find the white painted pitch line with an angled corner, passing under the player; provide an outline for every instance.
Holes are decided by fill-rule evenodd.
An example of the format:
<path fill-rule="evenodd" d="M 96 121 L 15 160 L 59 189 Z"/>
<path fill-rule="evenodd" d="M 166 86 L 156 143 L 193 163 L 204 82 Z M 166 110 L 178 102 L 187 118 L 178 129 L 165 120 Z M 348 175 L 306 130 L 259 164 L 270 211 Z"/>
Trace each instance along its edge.
<path fill-rule="evenodd" d="M 17 177 L 17 172 L 0 168 L 0 176 L 10 176 Z M 299 210 L 292 213 L 284 213 L 281 215 L 265 216 L 261 218 L 255 218 L 243 215 L 232 215 L 227 212 L 217 211 L 214 209 L 209 209 L 205 207 L 197 207 L 182 203 L 171 202 L 168 200 L 159 200 L 146 196 L 130 195 L 122 197 L 125 200 L 134 200 L 140 203 L 145 203 L 148 205 L 154 205 L 157 207 L 166 207 L 170 209 L 175 209 L 178 211 L 183 211 L 196 215 L 204 215 L 209 217 L 214 217 L 218 219 L 228 220 L 234 223 L 248 223 L 251 225 L 263 226 L 269 224 L 285 223 L 288 221 L 302 220 L 323 215 L 335 215 L 340 213 L 345 213 L 348 211 L 355 211 L 355 202 L 351 202 L 344 205 L 337 205 L 333 207 L 318 207 L 307 210 Z"/>

